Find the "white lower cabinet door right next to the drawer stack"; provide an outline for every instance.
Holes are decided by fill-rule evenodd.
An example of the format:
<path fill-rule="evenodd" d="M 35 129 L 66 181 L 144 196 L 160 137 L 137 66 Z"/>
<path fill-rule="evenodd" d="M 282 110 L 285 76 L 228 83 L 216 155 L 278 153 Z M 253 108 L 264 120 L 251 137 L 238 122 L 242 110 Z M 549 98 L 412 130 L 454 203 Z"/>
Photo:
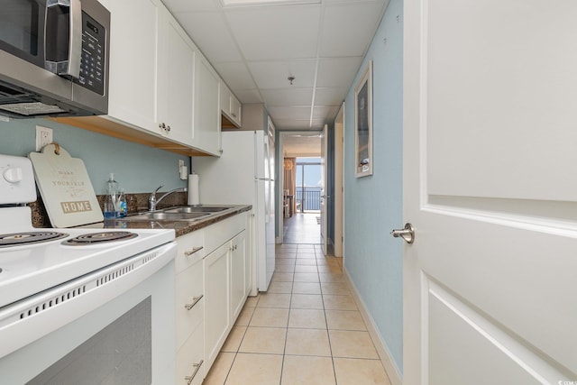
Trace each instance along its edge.
<path fill-rule="evenodd" d="M 215 361 L 229 331 L 229 247 L 224 243 L 204 260 L 206 368 Z"/>

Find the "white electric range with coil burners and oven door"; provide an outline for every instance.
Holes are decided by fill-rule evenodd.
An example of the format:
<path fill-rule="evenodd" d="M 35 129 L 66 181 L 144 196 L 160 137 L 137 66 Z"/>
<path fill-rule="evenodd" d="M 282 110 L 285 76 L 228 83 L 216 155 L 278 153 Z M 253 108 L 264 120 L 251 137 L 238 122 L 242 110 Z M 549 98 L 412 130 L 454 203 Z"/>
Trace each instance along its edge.
<path fill-rule="evenodd" d="M 144 371 L 140 361 L 126 368 L 110 360 L 95 362 L 89 353 L 85 360 L 72 360 L 104 365 L 90 369 L 107 376 L 100 380 L 143 376 L 138 378 L 150 380 L 147 383 L 169 383 L 164 381 L 174 375 L 170 359 L 174 357 L 174 231 L 34 228 L 31 209 L 23 205 L 35 200 L 30 160 L 0 155 L 3 381 L 44 383 L 49 376 L 53 383 L 87 383 L 73 377 L 78 368 L 67 362 L 78 352 L 89 352 L 87 344 L 95 345 L 96 338 L 101 345 L 98 352 L 102 346 L 116 344 L 111 347 L 114 356 L 114 351 L 125 346 L 133 349 L 136 344 L 142 349 L 133 353 L 148 351 L 149 357 L 143 360 Z M 121 332 L 113 341 L 98 337 L 111 335 L 114 327 L 123 330 L 131 309 L 137 309 L 133 312 L 139 316 L 130 322 L 142 323 L 144 331 L 137 342 L 125 339 Z M 64 366 L 69 371 L 60 370 Z M 121 366 L 125 372 L 118 373 Z M 54 376 L 54 371 L 59 374 Z"/>

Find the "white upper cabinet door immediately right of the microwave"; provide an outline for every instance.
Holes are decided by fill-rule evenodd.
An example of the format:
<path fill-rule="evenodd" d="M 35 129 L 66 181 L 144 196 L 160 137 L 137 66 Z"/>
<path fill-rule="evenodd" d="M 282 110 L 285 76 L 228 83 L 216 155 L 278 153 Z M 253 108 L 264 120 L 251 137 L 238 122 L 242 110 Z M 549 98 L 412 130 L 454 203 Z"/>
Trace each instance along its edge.
<path fill-rule="evenodd" d="M 108 115 L 155 131 L 159 4 L 154 0 L 107 2 L 111 17 Z M 160 5 L 161 6 L 161 5 Z M 134 21 L 138 9 L 138 21 Z"/>

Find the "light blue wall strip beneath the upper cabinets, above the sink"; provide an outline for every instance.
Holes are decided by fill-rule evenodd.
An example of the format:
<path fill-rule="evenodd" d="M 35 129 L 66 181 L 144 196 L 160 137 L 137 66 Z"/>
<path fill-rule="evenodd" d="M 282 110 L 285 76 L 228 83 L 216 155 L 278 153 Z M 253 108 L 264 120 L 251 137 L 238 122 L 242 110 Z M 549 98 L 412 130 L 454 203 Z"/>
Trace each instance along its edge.
<path fill-rule="evenodd" d="M 84 160 L 97 195 L 105 194 L 106 180 L 111 172 L 128 193 L 150 192 L 162 183 L 163 191 L 187 186 L 186 180 L 179 179 L 179 160 L 185 160 L 188 166 L 186 156 L 45 119 L 0 122 L 0 153 L 27 156 L 35 151 L 36 124 L 52 128 L 54 142 L 69 151 L 73 158 Z"/>

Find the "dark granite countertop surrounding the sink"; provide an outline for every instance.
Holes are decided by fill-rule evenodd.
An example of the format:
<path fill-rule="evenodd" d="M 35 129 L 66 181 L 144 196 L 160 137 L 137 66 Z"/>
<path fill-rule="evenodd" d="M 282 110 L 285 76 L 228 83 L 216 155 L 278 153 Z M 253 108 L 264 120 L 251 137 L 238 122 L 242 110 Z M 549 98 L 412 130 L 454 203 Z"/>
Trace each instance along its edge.
<path fill-rule="evenodd" d="M 198 219 L 195 221 L 164 221 L 164 220 L 125 221 L 122 220 L 121 218 L 121 219 L 114 219 L 111 221 L 99 222 L 97 224 L 92 225 L 83 225 L 80 227 L 115 228 L 115 229 L 173 229 L 176 233 L 176 236 L 179 237 L 252 209 L 252 205 L 222 205 L 222 206 L 230 206 L 232 208 L 225 210 L 223 213 L 215 213 L 213 215 L 207 215 L 206 218 Z"/>

